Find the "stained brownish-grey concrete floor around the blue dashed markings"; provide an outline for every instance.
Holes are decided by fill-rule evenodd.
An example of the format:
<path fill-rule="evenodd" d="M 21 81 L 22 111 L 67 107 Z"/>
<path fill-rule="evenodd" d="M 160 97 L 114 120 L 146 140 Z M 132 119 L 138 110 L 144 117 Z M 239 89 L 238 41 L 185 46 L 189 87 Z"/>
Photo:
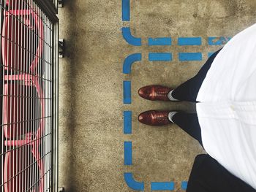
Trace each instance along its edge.
<path fill-rule="evenodd" d="M 138 88 L 160 84 L 176 87 L 194 76 L 206 61 L 207 37 L 232 37 L 256 18 L 255 0 L 131 0 L 131 21 L 121 21 L 121 0 L 70 0 L 59 9 L 60 37 L 67 45 L 60 59 L 59 185 L 66 191 L 132 191 L 124 172 L 150 183 L 188 180 L 200 145 L 178 126 L 138 123 L 145 110 L 186 110 L 195 106 L 152 102 Z M 121 27 L 130 26 L 143 45 L 124 41 Z M 172 37 L 173 45 L 149 47 L 148 37 Z M 202 37 L 202 46 L 177 45 L 178 37 Z M 149 62 L 149 52 L 172 52 L 171 62 Z M 179 52 L 202 52 L 203 61 L 178 61 Z M 143 59 L 123 74 L 124 58 Z M 132 81 L 132 104 L 123 104 L 123 81 Z M 132 111 L 132 134 L 123 133 L 123 111 Z M 124 141 L 132 141 L 132 166 L 124 166 Z"/>

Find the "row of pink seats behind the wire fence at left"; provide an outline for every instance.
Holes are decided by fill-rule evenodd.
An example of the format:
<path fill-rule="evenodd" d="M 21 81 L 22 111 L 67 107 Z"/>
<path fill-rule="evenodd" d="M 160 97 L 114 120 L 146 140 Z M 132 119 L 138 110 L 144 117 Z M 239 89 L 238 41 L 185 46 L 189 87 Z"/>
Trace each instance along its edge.
<path fill-rule="evenodd" d="M 18 1 L 7 1 L 19 7 Z M 15 6 L 13 6 L 15 4 Z M 33 9 L 4 11 L 4 191 L 44 191 L 43 23 Z M 34 177 L 31 177 L 33 175 Z"/>

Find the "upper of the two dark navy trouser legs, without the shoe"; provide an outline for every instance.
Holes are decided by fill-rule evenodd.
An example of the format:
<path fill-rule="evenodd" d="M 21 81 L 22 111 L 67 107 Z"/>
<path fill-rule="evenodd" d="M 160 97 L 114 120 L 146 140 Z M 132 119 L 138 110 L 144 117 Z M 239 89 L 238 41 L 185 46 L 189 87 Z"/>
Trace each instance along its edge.
<path fill-rule="evenodd" d="M 196 102 L 197 93 L 203 83 L 204 78 L 210 69 L 214 58 L 217 56 L 220 50 L 211 55 L 210 58 L 206 61 L 206 64 L 200 69 L 200 71 L 192 77 L 192 79 L 187 80 L 187 82 L 182 83 L 172 92 L 172 96 L 174 99 L 178 99 L 179 101 L 192 101 Z"/>

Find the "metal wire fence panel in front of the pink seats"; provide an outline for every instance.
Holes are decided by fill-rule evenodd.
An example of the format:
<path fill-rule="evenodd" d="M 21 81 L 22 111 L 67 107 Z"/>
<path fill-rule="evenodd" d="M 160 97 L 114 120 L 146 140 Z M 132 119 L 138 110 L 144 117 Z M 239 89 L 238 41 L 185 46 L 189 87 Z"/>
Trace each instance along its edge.
<path fill-rule="evenodd" d="M 1 191 L 53 191 L 53 23 L 33 0 L 1 1 Z"/>

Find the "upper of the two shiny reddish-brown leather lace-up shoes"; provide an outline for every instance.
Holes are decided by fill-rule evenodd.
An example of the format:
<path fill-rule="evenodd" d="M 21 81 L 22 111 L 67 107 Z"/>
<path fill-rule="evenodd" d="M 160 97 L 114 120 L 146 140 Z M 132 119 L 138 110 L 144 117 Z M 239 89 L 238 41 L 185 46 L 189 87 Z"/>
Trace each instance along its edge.
<path fill-rule="evenodd" d="M 148 85 L 140 88 L 138 93 L 144 99 L 151 101 L 170 101 L 167 94 L 172 90 L 173 88 L 167 88 L 162 85 Z"/>

